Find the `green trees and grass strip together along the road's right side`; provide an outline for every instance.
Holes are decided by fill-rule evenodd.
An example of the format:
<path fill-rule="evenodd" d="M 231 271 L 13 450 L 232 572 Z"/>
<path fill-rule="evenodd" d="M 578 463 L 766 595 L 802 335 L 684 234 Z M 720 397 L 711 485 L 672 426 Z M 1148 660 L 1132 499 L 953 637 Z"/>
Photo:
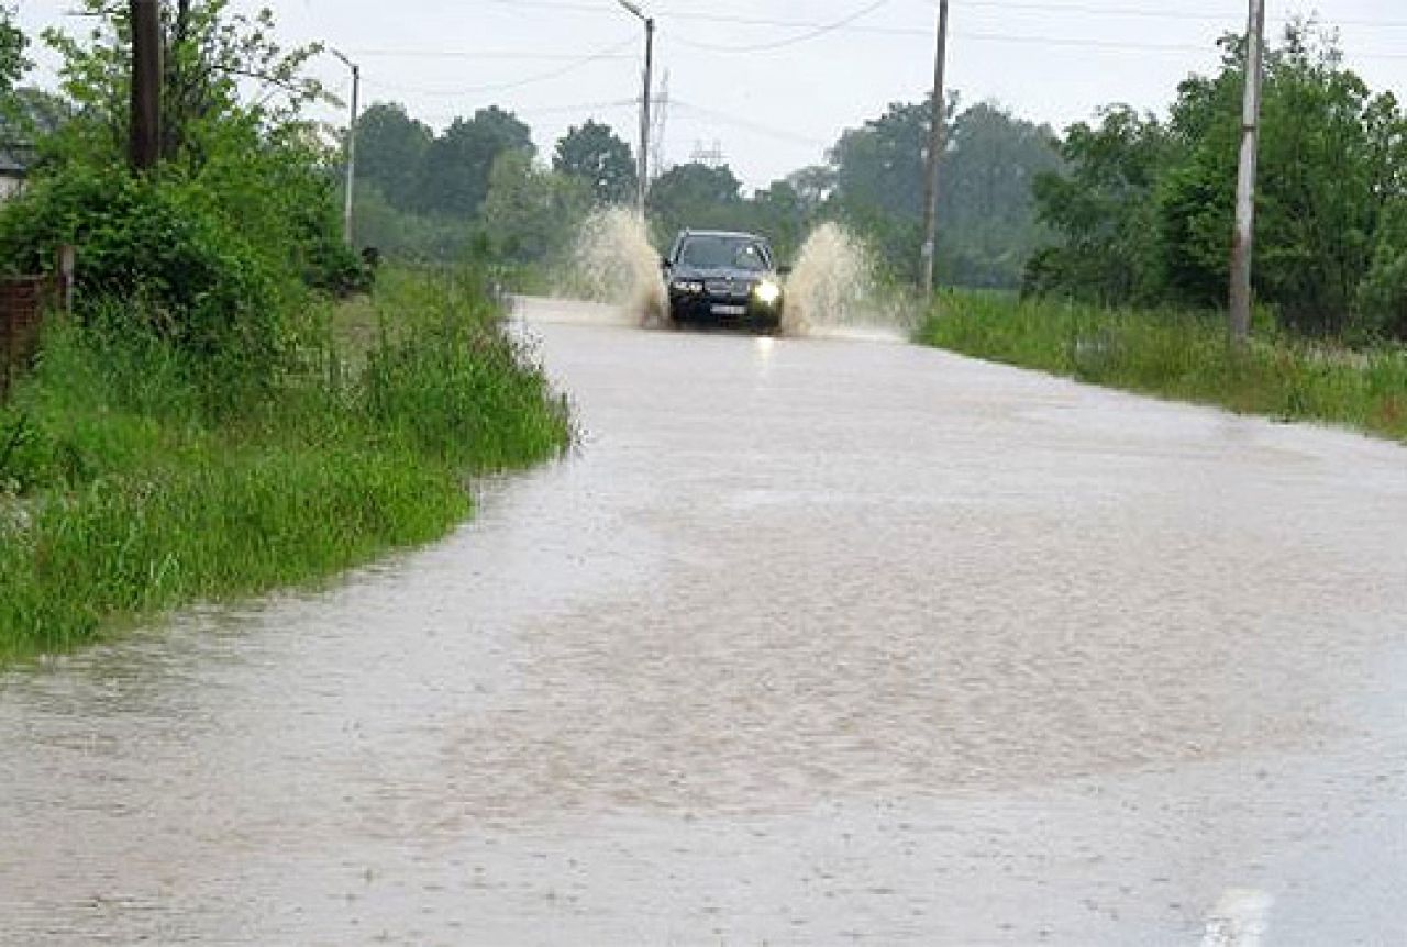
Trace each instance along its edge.
<path fill-rule="evenodd" d="M 1251 345 L 1228 345 L 1244 51 L 1169 117 L 1110 107 L 1037 177 L 1021 298 L 954 291 L 919 339 L 1099 384 L 1407 440 L 1407 115 L 1290 25 L 1268 56 Z"/>

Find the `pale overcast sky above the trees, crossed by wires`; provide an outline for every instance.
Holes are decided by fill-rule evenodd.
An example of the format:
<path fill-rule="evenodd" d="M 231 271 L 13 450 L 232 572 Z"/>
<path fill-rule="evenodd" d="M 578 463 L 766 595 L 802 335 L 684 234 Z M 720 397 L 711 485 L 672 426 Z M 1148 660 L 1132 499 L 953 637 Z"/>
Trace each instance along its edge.
<path fill-rule="evenodd" d="M 937 0 L 639 1 L 658 20 L 664 160 L 716 144 L 751 187 L 820 162 L 844 128 L 922 98 L 933 82 Z M 73 6 L 18 0 L 20 21 L 31 34 L 77 31 Z M 543 153 L 591 117 L 632 145 L 639 135 L 643 27 L 615 0 L 235 6 L 272 7 L 290 44 L 345 51 L 363 65 L 366 100 L 401 101 L 436 128 L 499 104 L 532 125 Z M 1272 34 L 1287 17 L 1317 14 L 1372 87 L 1407 98 L 1403 0 L 1269 0 L 1269 11 Z M 1244 30 L 1245 13 L 1245 0 L 951 0 L 948 86 L 967 103 L 996 100 L 1055 127 L 1114 101 L 1162 111 L 1182 77 L 1216 66 L 1216 38 Z M 38 82 L 52 83 L 52 61 L 38 58 Z M 335 59 L 318 72 L 346 91 Z"/>

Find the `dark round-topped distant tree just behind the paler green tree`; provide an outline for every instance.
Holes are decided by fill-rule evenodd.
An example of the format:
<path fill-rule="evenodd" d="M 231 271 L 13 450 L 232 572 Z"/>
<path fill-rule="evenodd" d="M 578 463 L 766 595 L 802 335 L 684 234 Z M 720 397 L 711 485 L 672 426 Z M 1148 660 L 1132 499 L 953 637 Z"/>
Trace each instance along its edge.
<path fill-rule="evenodd" d="M 494 162 L 504 152 L 535 153 L 532 132 L 512 113 L 481 108 L 469 121 L 456 118 L 425 153 L 418 208 L 436 214 L 474 217 L 488 197 Z"/>

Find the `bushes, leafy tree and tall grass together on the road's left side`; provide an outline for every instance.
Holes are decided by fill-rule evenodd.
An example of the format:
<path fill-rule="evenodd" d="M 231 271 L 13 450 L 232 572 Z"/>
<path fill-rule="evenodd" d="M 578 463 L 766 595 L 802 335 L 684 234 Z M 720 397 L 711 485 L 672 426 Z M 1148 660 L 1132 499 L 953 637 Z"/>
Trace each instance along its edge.
<path fill-rule="evenodd" d="M 0 405 L 0 664 L 443 536 L 470 477 L 571 433 L 478 270 L 373 284 L 343 245 L 336 152 L 303 117 L 315 48 L 274 45 L 267 14 L 173 4 L 162 163 L 139 174 L 124 17 L 86 7 L 90 35 L 48 37 L 62 121 L 0 208 L 0 272 L 79 258 L 73 312 Z M 0 98 L 25 121 L 10 80 Z"/>

